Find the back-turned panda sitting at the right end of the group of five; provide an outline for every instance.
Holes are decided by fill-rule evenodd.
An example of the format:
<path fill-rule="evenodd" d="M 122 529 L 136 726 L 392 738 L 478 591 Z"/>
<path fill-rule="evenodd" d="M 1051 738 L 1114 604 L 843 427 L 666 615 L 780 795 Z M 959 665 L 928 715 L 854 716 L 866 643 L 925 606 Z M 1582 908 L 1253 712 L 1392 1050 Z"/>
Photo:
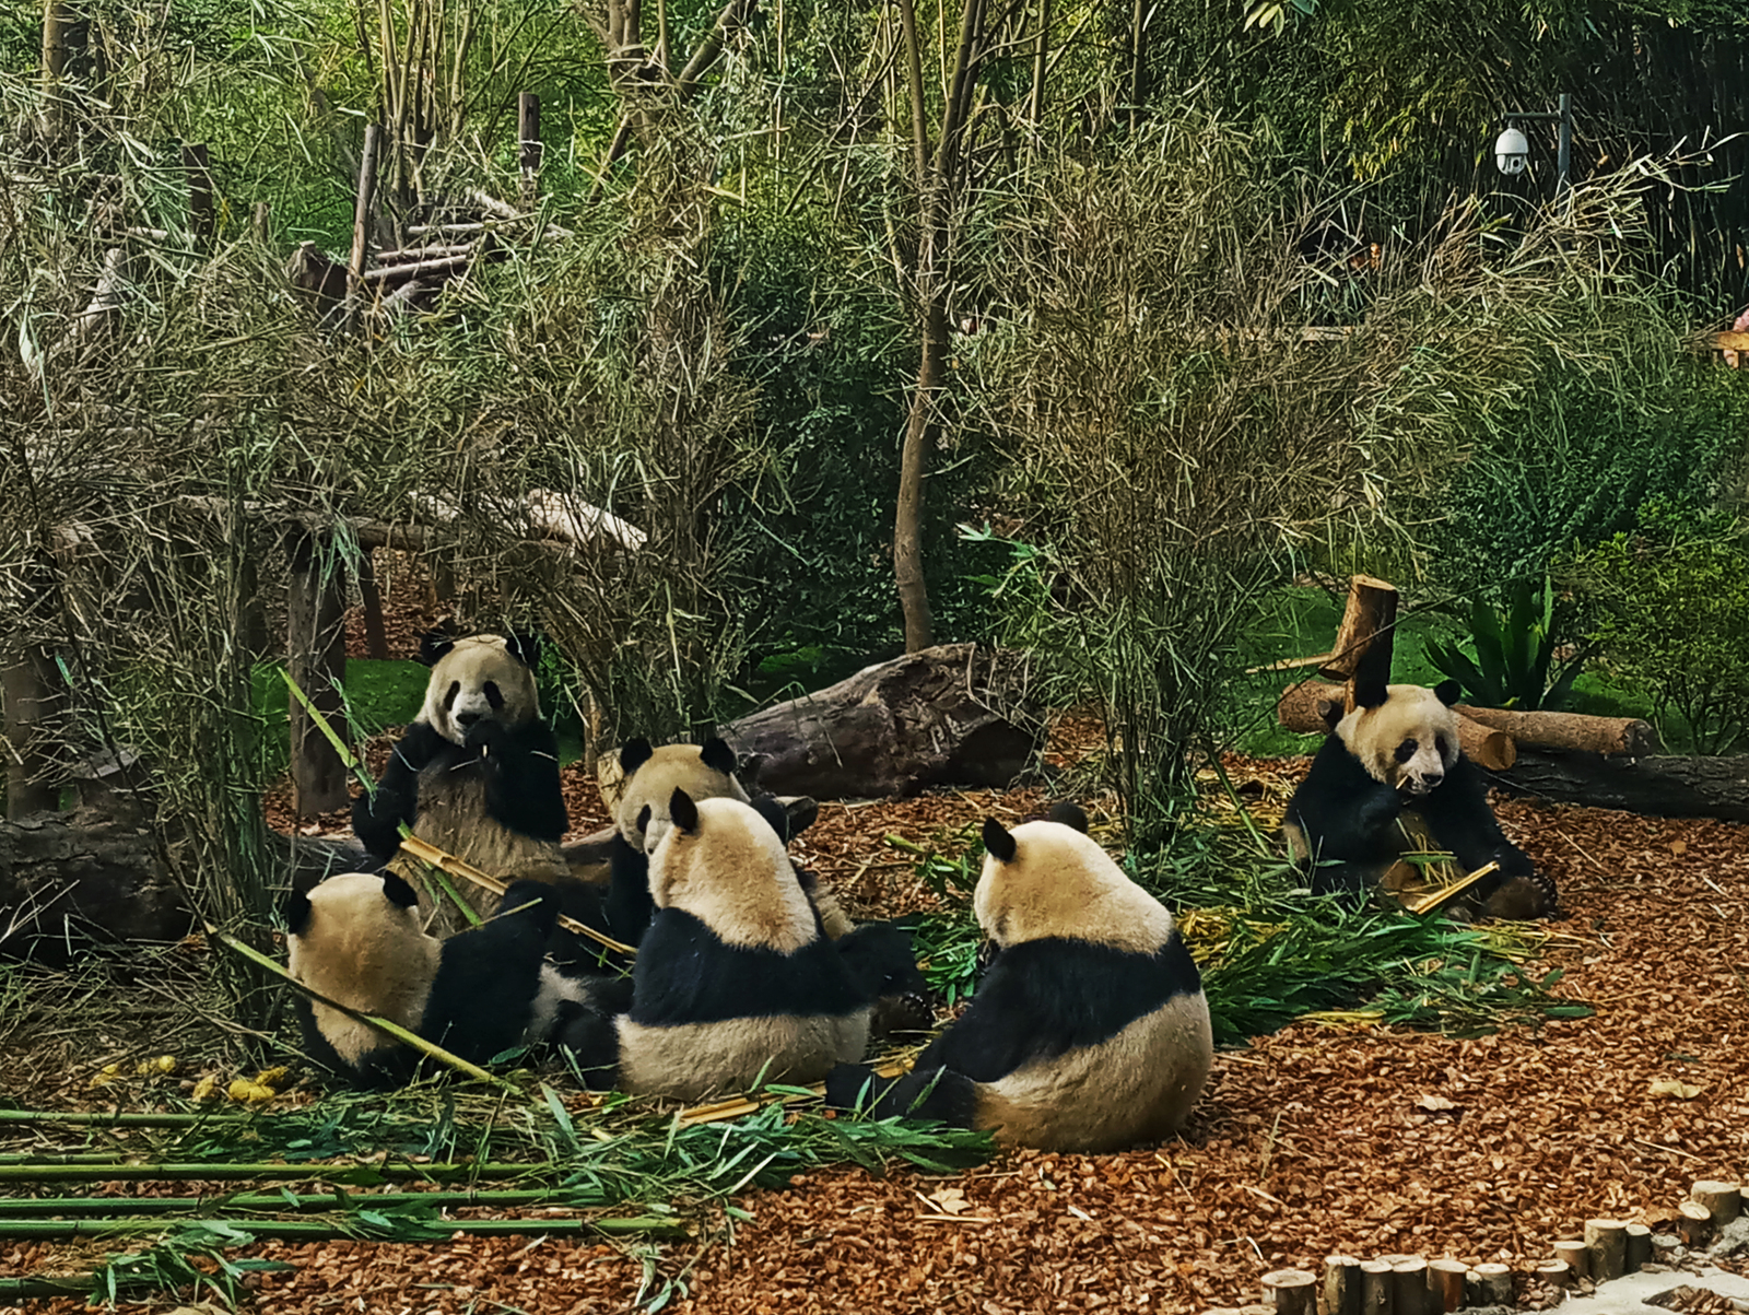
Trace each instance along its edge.
<path fill-rule="evenodd" d="M 1184 1124 L 1214 1063 L 1202 976 L 1172 915 L 1084 825 L 1072 806 L 1013 831 L 985 822 L 972 911 L 997 957 L 873 1114 L 1046 1151 L 1116 1151 Z M 841 1065 L 826 1098 L 855 1109 L 874 1086 Z"/>

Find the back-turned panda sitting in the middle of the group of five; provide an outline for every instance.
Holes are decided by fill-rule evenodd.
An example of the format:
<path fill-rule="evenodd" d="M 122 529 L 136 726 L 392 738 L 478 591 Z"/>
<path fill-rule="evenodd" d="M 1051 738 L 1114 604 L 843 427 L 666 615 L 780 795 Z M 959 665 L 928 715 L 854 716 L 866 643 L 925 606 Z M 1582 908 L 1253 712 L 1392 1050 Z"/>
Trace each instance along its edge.
<path fill-rule="evenodd" d="M 680 789 L 663 811 L 631 1007 L 575 1011 L 560 1037 L 591 1086 L 701 1100 L 761 1079 L 813 1082 L 861 1060 L 868 993 L 770 822 L 742 799 Z"/>

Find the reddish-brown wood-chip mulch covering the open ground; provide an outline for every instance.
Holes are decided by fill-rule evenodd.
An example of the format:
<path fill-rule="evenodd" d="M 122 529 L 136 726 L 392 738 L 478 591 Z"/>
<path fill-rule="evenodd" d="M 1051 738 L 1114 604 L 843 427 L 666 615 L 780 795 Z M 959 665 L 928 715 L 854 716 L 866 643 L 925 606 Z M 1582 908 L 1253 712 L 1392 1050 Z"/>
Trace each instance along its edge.
<path fill-rule="evenodd" d="M 1259 813 L 1301 769 L 1254 764 Z M 915 855 L 887 836 L 955 853 L 986 813 L 1041 801 L 826 804 L 803 859 L 869 911 L 927 906 Z M 1656 1219 L 1695 1179 L 1739 1180 L 1749 829 L 1495 806 L 1562 885 L 1569 918 L 1544 967 L 1565 969 L 1557 990 L 1593 1018 L 1473 1040 L 1296 1025 L 1217 1056 L 1189 1130 L 1161 1147 L 1011 1152 L 953 1179 L 808 1173 L 738 1198 L 750 1221 L 721 1217 L 689 1245 L 262 1245 L 297 1271 L 262 1278 L 259 1308 L 612 1312 L 677 1280 L 675 1312 L 1193 1312 L 1254 1301 L 1261 1273 L 1338 1250 L 1527 1271 L 1588 1217 Z M 0 1250 L 9 1273 L 56 1261 L 52 1247 Z M 1551 1294 L 1522 1282 L 1520 1299 Z"/>

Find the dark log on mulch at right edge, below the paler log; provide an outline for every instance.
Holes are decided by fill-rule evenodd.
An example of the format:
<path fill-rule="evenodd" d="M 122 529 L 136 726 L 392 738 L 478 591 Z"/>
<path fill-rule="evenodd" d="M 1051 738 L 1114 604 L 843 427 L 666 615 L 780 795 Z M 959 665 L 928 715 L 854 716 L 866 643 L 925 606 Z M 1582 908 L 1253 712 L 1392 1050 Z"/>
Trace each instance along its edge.
<path fill-rule="evenodd" d="M 1509 794 L 1648 817 L 1716 817 L 1749 822 L 1749 755 L 1604 757 L 1562 748 L 1522 748 L 1511 771 L 1488 771 Z"/>

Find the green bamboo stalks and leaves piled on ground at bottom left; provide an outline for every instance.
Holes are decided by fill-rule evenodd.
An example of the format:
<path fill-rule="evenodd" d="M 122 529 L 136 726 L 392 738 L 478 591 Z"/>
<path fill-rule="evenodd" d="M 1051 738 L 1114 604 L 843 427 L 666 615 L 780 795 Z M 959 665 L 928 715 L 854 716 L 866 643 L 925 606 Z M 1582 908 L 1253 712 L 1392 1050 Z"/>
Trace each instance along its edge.
<path fill-rule="evenodd" d="M 280 1112 L 0 1110 L 0 1238 L 129 1245 L 86 1273 L 0 1280 L 0 1305 L 189 1284 L 229 1301 L 278 1264 L 229 1252 L 269 1238 L 687 1236 L 806 1168 L 944 1172 L 990 1152 L 985 1133 L 794 1110 L 784 1098 L 806 1093 L 784 1086 L 750 1117 L 691 1126 L 651 1102 L 567 1107 L 525 1088 L 427 1082 Z"/>

